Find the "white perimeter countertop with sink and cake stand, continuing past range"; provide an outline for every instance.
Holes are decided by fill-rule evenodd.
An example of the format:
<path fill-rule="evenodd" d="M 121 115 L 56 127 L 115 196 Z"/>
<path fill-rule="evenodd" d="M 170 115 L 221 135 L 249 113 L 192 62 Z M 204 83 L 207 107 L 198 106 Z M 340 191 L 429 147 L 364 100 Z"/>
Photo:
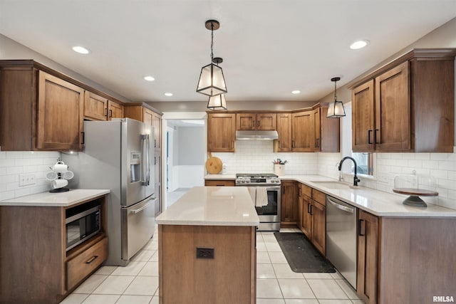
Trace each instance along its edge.
<path fill-rule="evenodd" d="M 205 179 L 219 179 L 219 176 L 227 177 L 226 179 L 229 179 L 228 177 L 236 179 L 235 174 L 208 174 Z M 284 175 L 279 178 L 301 182 L 376 216 L 456 218 L 456 210 L 435 204 L 428 203 L 426 208 L 404 205 L 402 202 L 407 198 L 407 195 L 392 194 L 362 186 L 348 189 L 329 189 L 321 184 L 314 183 L 318 181 L 337 182 L 336 179 L 329 177 L 322 177 L 320 175 Z M 350 185 L 348 183 L 346 184 Z"/>

